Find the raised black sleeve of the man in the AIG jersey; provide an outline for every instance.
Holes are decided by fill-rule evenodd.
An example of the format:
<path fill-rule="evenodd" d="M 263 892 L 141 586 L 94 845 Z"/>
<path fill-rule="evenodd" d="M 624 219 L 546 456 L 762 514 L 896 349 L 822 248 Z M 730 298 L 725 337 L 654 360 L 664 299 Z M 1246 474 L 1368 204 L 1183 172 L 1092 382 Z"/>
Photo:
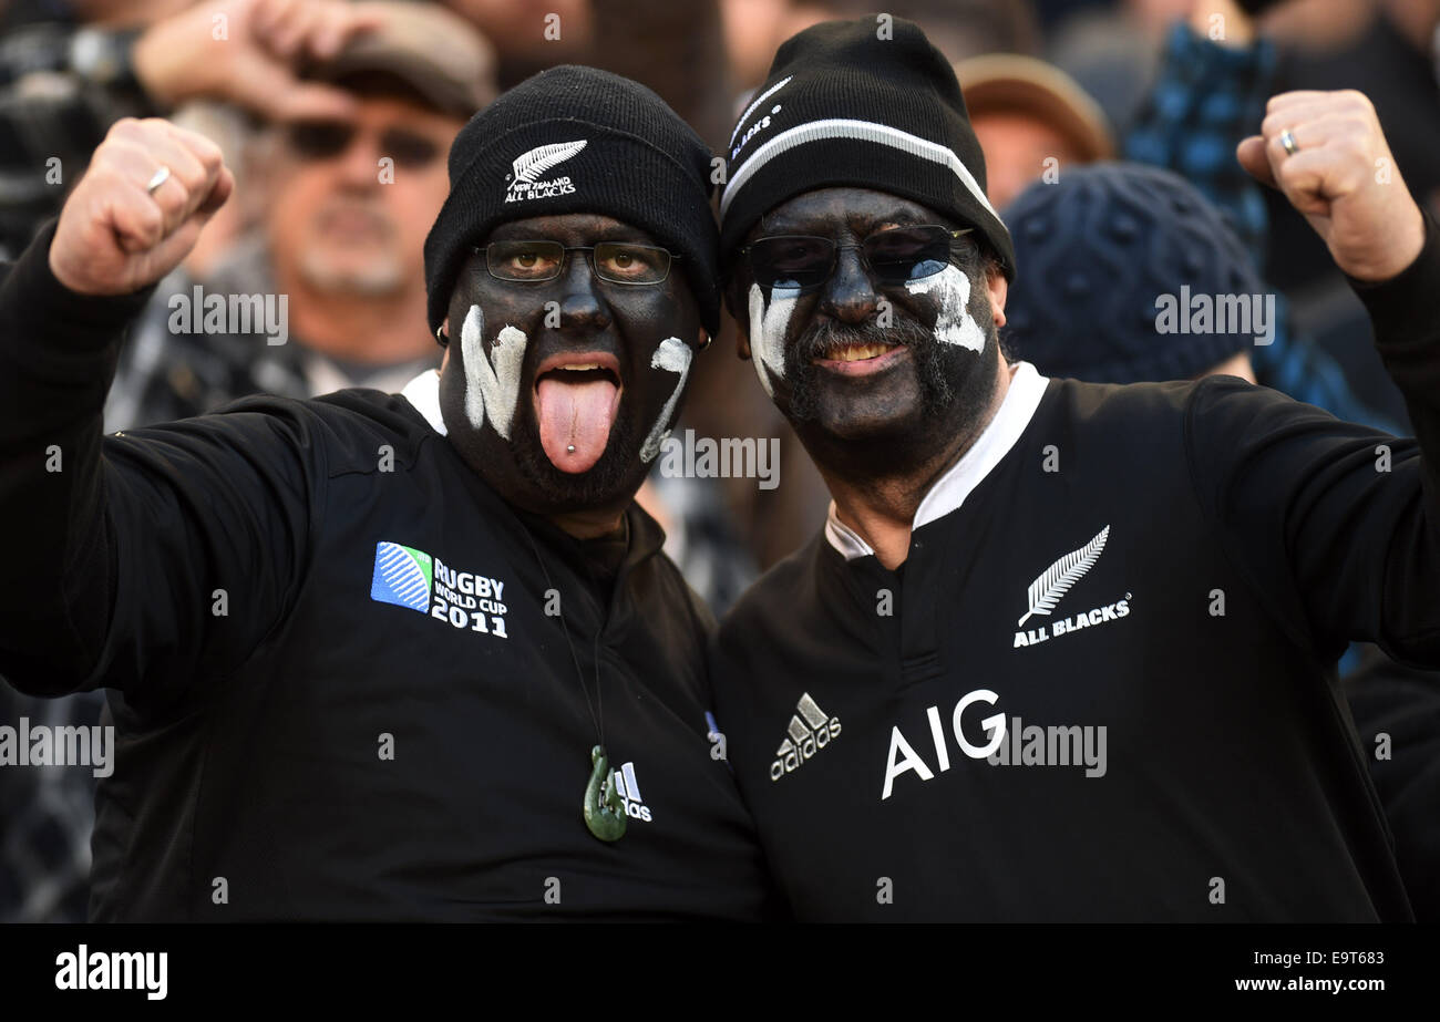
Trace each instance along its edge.
<path fill-rule="evenodd" d="M 1231 561 L 1302 643 L 1368 639 L 1440 666 L 1440 232 L 1382 284 L 1351 282 L 1416 439 L 1228 377 L 1197 384 L 1185 448 Z"/>

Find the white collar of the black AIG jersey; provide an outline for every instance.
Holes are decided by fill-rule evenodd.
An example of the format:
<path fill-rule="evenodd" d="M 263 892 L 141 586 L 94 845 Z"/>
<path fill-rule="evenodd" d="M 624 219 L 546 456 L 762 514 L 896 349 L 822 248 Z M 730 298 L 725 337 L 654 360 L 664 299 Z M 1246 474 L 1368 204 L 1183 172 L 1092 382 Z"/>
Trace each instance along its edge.
<path fill-rule="evenodd" d="M 930 487 L 930 492 L 924 495 L 920 507 L 914 511 L 912 531 L 936 518 L 943 518 L 965 502 L 971 491 L 989 475 L 1001 458 L 1009 453 L 1015 440 L 1025 432 L 1035 409 L 1040 407 L 1040 399 L 1045 396 L 1045 384 L 1048 383 L 1048 377 L 1041 376 L 1028 361 L 1015 363 L 1009 377 L 1009 390 L 1005 392 L 1005 400 L 1001 402 L 995 417 L 991 419 L 985 432 L 975 438 L 969 451 L 960 455 L 960 459 Z M 855 530 L 835 517 L 835 501 L 829 502 L 825 538 L 848 561 L 876 553 Z"/>

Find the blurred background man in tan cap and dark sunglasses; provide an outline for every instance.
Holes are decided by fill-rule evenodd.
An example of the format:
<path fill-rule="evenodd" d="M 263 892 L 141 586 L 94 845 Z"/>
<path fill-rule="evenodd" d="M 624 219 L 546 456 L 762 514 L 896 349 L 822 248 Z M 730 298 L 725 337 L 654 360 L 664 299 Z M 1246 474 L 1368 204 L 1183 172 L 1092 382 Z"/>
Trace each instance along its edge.
<path fill-rule="evenodd" d="M 246 141 L 239 200 L 253 230 L 200 279 L 161 285 L 124 351 L 108 428 L 252 393 L 399 390 L 436 364 L 425 232 L 445 202 L 449 144 L 495 96 L 494 53 L 431 4 L 363 7 L 366 30 L 334 53 L 295 58 L 298 81 L 348 105 L 276 117 Z M 284 295 L 284 315 L 204 325 L 207 295 Z"/>

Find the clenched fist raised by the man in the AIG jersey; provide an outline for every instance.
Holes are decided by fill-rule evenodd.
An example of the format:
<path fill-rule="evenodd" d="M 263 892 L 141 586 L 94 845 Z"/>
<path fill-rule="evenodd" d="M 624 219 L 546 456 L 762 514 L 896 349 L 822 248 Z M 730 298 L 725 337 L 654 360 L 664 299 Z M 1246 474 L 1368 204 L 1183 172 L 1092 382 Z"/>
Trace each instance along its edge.
<path fill-rule="evenodd" d="M 1293 153 L 1284 147 L 1287 131 Z M 1240 143 L 1236 155 L 1253 177 L 1284 193 L 1351 276 L 1387 281 L 1420 255 L 1424 216 L 1364 94 L 1272 96 L 1260 134 Z"/>

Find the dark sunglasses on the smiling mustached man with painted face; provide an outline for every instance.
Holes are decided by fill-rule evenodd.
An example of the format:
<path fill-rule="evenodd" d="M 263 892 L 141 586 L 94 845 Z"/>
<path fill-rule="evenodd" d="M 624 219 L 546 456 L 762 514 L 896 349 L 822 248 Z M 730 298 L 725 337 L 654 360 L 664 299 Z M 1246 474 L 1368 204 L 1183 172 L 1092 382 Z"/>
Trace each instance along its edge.
<path fill-rule="evenodd" d="M 829 238 L 775 235 L 740 249 L 750 261 L 755 282 L 765 288 L 814 291 L 835 272 L 841 249 L 860 249 L 860 258 L 881 285 L 900 285 L 939 273 L 950 262 L 956 239 L 973 227 L 950 230 L 939 225 L 877 230 L 860 245 L 837 245 Z"/>

